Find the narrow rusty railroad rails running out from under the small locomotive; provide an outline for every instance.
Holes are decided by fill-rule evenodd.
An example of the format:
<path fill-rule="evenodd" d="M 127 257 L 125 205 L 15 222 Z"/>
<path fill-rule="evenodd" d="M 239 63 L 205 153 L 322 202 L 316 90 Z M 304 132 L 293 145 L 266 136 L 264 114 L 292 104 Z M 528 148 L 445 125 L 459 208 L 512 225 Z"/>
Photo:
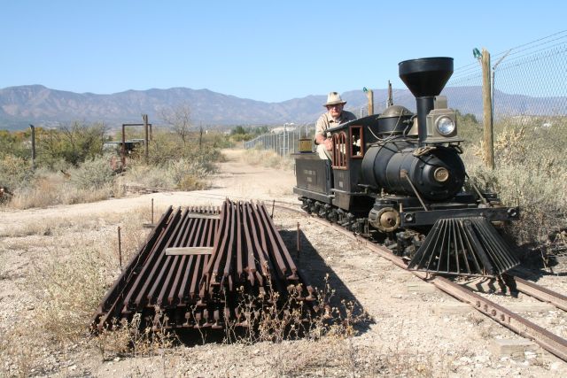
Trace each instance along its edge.
<path fill-rule="evenodd" d="M 274 206 L 283 211 L 298 213 L 309 220 L 314 220 L 315 222 L 322 224 L 324 227 L 332 228 L 338 233 L 346 235 L 353 241 L 356 241 L 360 245 L 366 247 L 370 251 L 376 252 L 381 257 L 391 261 L 394 265 L 408 270 L 407 264 L 402 258 L 394 255 L 391 250 L 382 245 L 372 243 L 368 239 L 363 238 L 361 235 L 355 235 L 353 232 L 348 231 L 345 228 L 341 228 L 337 224 L 309 215 L 306 212 L 300 211 L 287 204 L 274 204 Z M 516 312 L 510 311 L 503 305 L 498 305 L 492 300 L 478 295 L 478 293 L 474 292 L 469 287 L 463 286 L 439 275 L 431 275 L 409 270 L 408 272 L 416 275 L 425 282 L 431 283 L 451 297 L 470 305 L 478 312 L 483 313 L 485 316 L 500 323 L 502 326 L 509 328 L 518 335 L 524 336 L 533 342 L 538 343 L 543 349 L 554 354 L 556 357 L 567 361 L 567 340 L 563 337 L 557 336 L 545 328 L 541 328 L 531 320 L 527 320 L 521 315 L 518 315 Z M 509 280 L 513 280 L 513 282 L 516 283 L 517 291 L 522 292 L 529 297 L 534 297 L 542 302 L 554 305 L 557 309 L 567 312 L 567 297 L 533 282 L 525 281 L 514 274 L 506 275 L 507 277 L 505 278 L 508 282 L 510 282 Z"/>

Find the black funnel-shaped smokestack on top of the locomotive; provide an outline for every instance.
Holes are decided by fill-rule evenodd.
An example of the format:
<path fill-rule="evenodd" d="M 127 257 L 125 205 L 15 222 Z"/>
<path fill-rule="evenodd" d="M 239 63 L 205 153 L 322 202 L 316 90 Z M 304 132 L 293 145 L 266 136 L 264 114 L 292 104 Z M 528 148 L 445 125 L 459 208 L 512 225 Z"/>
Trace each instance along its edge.
<path fill-rule="evenodd" d="M 427 114 L 434 107 L 435 96 L 453 74 L 453 58 L 421 58 L 400 62 L 400 79 L 416 96 L 419 144 L 427 136 Z"/>

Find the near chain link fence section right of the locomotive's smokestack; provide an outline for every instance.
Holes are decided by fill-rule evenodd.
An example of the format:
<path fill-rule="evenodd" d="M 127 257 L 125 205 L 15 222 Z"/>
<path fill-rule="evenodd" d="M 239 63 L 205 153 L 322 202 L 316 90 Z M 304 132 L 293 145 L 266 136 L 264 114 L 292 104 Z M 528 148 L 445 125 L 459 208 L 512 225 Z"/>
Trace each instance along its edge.
<path fill-rule="evenodd" d="M 567 115 L 567 30 L 491 56 L 493 121 L 548 127 Z M 450 107 L 483 121 L 479 62 L 454 70 Z"/>

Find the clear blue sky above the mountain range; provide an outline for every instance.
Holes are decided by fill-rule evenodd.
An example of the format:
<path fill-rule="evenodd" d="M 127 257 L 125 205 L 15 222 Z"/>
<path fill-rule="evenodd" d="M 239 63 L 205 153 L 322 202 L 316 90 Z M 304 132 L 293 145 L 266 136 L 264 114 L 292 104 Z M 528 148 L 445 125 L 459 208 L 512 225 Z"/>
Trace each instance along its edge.
<path fill-rule="evenodd" d="M 566 29 L 565 2 L 0 0 L 0 88 L 187 87 L 279 102 L 404 88 L 398 63 L 454 67 Z"/>

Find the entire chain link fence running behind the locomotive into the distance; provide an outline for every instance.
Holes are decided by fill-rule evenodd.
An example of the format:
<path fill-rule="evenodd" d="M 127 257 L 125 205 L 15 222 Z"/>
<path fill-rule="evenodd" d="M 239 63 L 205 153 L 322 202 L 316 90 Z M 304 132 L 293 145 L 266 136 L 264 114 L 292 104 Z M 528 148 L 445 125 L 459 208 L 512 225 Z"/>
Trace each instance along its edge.
<path fill-rule="evenodd" d="M 492 55 L 491 81 L 495 127 L 567 126 L 567 30 Z M 482 67 L 480 61 L 458 67 L 443 92 L 450 108 L 483 123 Z M 416 112 L 416 99 L 408 89 L 393 89 L 394 104 Z M 387 93 L 374 97 L 374 112 L 383 112 Z M 368 107 L 354 111 L 368 115 Z M 298 150 L 299 138 L 313 137 L 315 124 L 278 127 L 245 143 L 245 148 L 275 150 L 280 155 Z"/>

